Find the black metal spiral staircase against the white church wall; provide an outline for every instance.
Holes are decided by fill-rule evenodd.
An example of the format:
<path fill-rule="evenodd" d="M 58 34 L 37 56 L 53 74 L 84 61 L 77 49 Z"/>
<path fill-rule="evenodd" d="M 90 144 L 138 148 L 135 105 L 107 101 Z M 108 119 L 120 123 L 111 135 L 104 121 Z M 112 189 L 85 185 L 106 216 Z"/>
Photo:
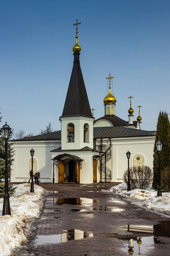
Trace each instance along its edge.
<path fill-rule="evenodd" d="M 100 156 L 100 171 L 101 171 L 101 181 L 111 182 L 112 179 L 112 171 L 108 167 L 106 167 L 106 162 L 108 162 L 111 155 L 111 146 L 103 145 L 102 139 L 100 140 L 100 145 L 94 145 L 102 155 Z"/>

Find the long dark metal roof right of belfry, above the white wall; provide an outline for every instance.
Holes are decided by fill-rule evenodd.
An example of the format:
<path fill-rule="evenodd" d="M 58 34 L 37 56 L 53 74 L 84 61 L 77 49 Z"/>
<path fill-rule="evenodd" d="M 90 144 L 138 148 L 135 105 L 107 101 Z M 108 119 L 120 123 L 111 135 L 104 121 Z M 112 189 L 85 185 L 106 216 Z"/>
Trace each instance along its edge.
<path fill-rule="evenodd" d="M 123 138 L 138 136 L 155 136 L 156 132 L 143 131 L 128 127 L 94 127 L 94 138 Z"/>

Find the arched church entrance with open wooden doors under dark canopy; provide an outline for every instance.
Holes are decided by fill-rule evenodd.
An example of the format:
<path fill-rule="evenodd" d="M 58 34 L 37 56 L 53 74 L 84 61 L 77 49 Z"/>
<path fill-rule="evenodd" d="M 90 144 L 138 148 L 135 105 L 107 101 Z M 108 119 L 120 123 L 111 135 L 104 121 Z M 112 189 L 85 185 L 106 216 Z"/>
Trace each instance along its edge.
<path fill-rule="evenodd" d="M 83 159 L 76 155 L 60 154 L 52 160 L 58 167 L 58 183 L 80 183 L 80 169 Z"/>

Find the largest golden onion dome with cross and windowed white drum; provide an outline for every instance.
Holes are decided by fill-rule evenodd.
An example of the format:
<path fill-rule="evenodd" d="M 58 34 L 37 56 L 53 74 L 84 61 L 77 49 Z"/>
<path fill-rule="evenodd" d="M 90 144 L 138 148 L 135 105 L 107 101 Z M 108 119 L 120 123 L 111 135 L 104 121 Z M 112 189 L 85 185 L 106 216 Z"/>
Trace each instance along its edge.
<path fill-rule="evenodd" d="M 109 79 L 109 93 L 104 98 L 104 106 L 105 106 L 105 115 L 115 115 L 115 103 L 116 98 L 111 93 L 111 79 L 114 77 L 111 77 L 111 74 L 109 74 L 109 77 L 106 77 L 106 79 Z"/>

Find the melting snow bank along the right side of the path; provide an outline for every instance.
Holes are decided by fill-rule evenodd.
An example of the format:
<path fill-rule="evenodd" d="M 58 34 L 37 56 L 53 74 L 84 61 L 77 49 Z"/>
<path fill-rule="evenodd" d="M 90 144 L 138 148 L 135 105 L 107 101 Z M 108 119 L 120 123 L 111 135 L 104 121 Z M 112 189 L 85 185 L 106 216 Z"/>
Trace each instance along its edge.
<path fill-rule="evenodd" d="M 131 203 L 137 206 L 146 207 L 149 210 L 170 215 L 170 193 L 162 193 L 161 197 L 157 197 L 157 191 L 154 191 L 151 186 L 147 189 L 127 191 L 127 185 L 121 183 L 111 187 L 105 192 L 130 199 L 132 200 Z"/>

